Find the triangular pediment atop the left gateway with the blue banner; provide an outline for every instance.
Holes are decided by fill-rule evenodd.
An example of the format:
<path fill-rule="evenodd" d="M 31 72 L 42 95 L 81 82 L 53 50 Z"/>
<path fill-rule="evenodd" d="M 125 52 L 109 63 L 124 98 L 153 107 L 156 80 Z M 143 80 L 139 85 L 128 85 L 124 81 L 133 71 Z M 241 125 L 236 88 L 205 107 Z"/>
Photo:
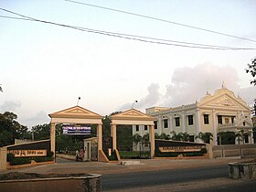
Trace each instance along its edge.
<path fill-rule="evenodd" d="M 91 112 L 87 109 L 84 109 L 80 106 L 74 106 L 66 110 L 62 110 L 60 112 L 54 112 L 49 114 L 52 117 L 64 117 L 64 118 L 92 118 L 92 119 L 101 119 L 102 116 L 95 112 Z"/>

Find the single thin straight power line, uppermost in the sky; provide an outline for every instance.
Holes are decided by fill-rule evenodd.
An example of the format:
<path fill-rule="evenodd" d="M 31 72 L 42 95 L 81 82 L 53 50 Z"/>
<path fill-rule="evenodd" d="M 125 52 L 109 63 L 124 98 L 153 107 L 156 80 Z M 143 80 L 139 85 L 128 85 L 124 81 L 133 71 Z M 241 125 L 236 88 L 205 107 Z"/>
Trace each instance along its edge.
<path fill-rule="evenodd" d="M 109 8 L 109 7 L 105 7 L 105 6 L 86 4 L 86 3 L 79 2 L 79 1 L 72 1 L 72 0 L 65 0 L 65 1 L 70 2 L 70 3 L 74 3 L 74 4 L 87 5 L 87 6 L 101 8 L 101 9 L 105 9 L 105 10 L 109 10 L 109 11 L 119 12 L 119 13 L 123 13 L 123 14 L 127 14 L 127 15 L 140 16 L 140 17 L 144 17 L 144 18 L 148 18 L 148 19 L 152 19 L 152 20 L 156 20 L 156 21 L 161 21 L 161 22 L 165 22 L 165 23 L 169 23 L 169 24 L 174 24 L 174 25 L 177 25 L 177 26 L 189 27 L 189 28 L 193 28 L 193 29 L 197 29 L 197 30 L 201 30 L 201 31 L 206 31 L 206 32 L 218 34 L 218 35 L 221 35 L 221 36 L 234 37 L 234 38 L 239 38 L 239 39 L 242 39 L 242 40 L 256 42 L 256 40 L 253 40 L 253 39 L 250 39 L 250 38 L 233 36 L 233 35 L 229 35 L 229 34 L 226 34 L 226 33 L 221 33 L 221 32 L 218 32 L 218 31 L 209 30 L 209 29 L 201 28 L 201 27 L 193 27 L 193 26 L 189 26 L 189 25 L 186 25 L 186 24 L 177 23 L 175 21 L 169 21 L 169 20 L 165 20 L 165 19 L 162 19 L 162 18 L 156 18 L 156 17 L 153 17 L 153 16 L 144 16 L 144 15 L 141 15 L 141 14 L 135 14 L 135 13 L 132 13 L 132 12 L 127 12 L 127 11 L 123 11 L 123 10 L 119 10 L 119 9 L 113 9 L 113 8 Z"/>

